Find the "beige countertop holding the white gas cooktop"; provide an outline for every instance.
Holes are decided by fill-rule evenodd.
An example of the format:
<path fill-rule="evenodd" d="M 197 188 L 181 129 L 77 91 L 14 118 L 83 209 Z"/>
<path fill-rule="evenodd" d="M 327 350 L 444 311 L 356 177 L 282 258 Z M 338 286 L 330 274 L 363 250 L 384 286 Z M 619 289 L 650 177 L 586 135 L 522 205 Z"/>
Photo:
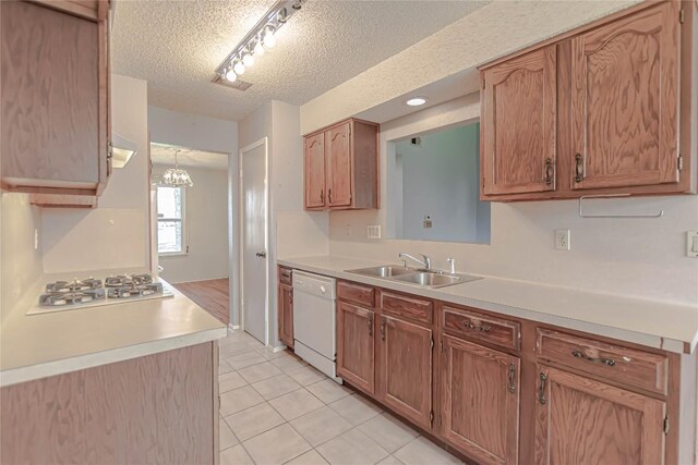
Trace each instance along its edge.
<path fill-rule="evenodd" d="M 225 338 L 226 326 L 160 280 L 173 296 L 26 315 L 44 276 L 0 328 L 0 387 L 111 364 Z M 113 272 L 85 272 L 95 278 Z"/>

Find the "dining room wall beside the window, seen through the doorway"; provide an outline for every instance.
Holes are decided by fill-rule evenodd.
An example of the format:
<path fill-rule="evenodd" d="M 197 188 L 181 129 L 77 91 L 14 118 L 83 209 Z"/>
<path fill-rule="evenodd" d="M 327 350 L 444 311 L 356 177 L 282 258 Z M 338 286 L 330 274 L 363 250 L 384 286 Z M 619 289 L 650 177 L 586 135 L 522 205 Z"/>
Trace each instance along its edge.
<path fill-rule="evenodd" d="M 169 166 L 154 166 L 161 175 Z M 186 167 L 194 183 L 185 191 L 184 238 L 189 253 L 160 256 L 168 282 L 228 278 L 228 170 Z"/>

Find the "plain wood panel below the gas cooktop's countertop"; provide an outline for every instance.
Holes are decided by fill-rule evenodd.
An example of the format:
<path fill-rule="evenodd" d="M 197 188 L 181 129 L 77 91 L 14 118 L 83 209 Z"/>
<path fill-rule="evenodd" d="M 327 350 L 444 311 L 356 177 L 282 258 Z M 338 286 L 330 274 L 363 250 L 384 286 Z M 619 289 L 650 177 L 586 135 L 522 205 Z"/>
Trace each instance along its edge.
<path fill-rule="evenodd" d="M 218 343 L 0 390 L 2 464 L 218 463 Z"/>

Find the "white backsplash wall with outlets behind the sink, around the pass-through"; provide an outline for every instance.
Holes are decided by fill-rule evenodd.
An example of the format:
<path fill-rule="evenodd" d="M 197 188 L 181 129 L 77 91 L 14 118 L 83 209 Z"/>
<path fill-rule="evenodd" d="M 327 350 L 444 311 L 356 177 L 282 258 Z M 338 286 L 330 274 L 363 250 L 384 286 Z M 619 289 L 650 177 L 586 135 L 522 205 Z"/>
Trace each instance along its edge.
<path fill-rule="evenodd" d="M 479 114 L 474 95 L 390 121 L 381 127 L 381 152 L 386 152 L 387 140 L 472 122 Z M 385 196 L 385 157 L 381 172 Z M 576 200 L 493 203 L 491 245 L 366 240 L 365 227 L 385 228 L 390 208 L 387 203 L 381 210 L 330 213 L 330 254 L 397 262 L 399 252 L 424 253 L 438 268 L 446 268 L 446 257 L 453 256 L 461 272 L 683 305 L 698 303 L 698 261 L 685 256 L 685 232 L 698 228 L 698 196 L 591 200 L 589 205 L 597 212 L 664 210 L 659 219 L 582 219 Z M 349 235 L 346 225 L 351 227 Z M 555 229 L 571 230 L 570 252 L 554 249 Z"/>

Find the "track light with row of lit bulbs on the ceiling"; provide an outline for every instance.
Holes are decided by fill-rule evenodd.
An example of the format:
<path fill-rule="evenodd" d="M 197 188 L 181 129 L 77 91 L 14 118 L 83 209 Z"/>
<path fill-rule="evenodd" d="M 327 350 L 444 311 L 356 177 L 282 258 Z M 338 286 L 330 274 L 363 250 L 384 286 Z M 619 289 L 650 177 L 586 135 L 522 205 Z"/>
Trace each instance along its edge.
<path fill-rule="evenodd" d="M 275 34 L 286 24 L 306 0 L 277 0 L 254 27 L 218 65 L 216 74 L 228 82 L 236 82 L 245 68 L 254 65 L 255 59 L 276 45 Z"/>

